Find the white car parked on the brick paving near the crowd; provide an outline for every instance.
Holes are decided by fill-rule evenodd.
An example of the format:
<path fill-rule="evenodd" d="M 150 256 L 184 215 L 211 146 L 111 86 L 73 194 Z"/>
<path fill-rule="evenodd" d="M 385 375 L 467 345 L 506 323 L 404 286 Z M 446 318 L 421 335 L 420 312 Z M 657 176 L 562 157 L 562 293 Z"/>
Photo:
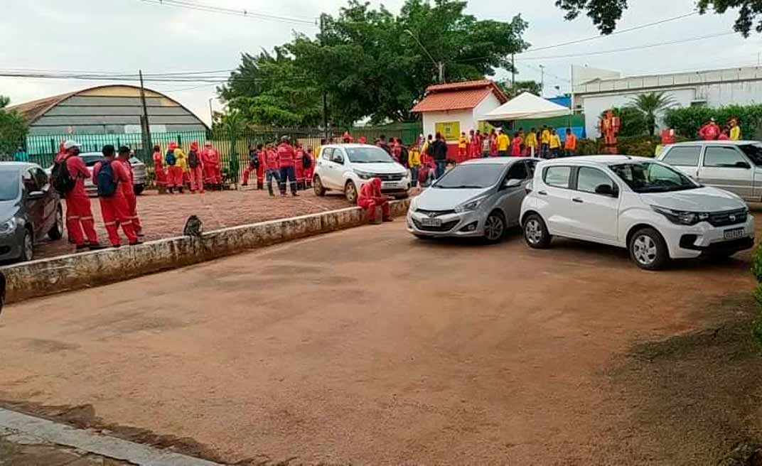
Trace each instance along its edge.
<path fill-rule="evenodd" d="M 357 203 L 360 187 L 371 178 L 381 179 L 381 192 L 402 199 L 410 190 L 410 174 L 383 148 L 367 144 L 331 144 L 320 148 L 315 160 L 312 187 L 315 194 L 337 190 Z"/>

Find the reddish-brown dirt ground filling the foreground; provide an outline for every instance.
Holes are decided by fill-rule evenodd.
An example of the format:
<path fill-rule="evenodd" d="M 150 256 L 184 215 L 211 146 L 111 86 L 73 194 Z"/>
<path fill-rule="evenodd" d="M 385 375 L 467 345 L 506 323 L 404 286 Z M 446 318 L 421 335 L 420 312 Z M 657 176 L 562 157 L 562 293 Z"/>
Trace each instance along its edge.
<path fill-rule="evenodd" d="M 13 305 L 0 400 L 229 463 L 716 464 L 762 439 L 749 260 L 354 228 Z"/>

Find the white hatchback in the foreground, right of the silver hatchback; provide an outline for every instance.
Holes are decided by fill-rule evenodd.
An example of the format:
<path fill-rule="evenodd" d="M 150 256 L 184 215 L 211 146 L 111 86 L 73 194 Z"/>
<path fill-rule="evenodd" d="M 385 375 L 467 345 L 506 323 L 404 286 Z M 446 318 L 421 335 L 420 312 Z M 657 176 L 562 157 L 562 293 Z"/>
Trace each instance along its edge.
<path fill-rule="evenodd" d="M 652 158 L 591 155 L 537 164 L 521 205 L 524 239 L 552 236 L 626 247 L 658 270 L 670 259 L 728 257 L 754 246 L 754 217 L 738 195 L 703 187 Z"/>

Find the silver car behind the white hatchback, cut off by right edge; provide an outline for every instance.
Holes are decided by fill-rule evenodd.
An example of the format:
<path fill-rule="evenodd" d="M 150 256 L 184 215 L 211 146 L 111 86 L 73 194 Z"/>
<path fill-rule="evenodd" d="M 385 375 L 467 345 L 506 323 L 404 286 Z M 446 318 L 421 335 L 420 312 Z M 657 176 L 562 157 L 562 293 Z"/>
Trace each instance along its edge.
<path fill-rule="evenodd" d="M 658 160 L 692 180 L 762 200 L 762 143 L 758 141 L 692 141 L 664 147 Z"/>

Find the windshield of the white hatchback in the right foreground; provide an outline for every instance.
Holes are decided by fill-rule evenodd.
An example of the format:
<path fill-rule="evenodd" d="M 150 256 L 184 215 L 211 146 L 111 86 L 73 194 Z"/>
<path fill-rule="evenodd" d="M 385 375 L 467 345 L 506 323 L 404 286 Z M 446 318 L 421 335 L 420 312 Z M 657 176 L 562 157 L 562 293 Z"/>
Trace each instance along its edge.
<path fill-rule="evenodd" d="M 679 171 L 655 162 L 619 164 L 610 168 L 636 193 L 666 193 L 699 187 Z"/>

